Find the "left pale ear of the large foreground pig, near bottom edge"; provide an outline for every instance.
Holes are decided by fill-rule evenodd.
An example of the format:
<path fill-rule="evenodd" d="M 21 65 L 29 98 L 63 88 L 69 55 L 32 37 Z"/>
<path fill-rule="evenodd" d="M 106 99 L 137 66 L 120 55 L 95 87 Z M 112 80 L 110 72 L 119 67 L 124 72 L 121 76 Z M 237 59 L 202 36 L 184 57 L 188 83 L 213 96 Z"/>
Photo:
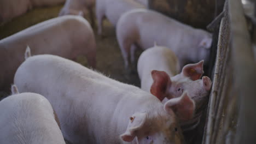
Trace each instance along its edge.
<path fill-rule="evenodd" d="M 131 142 L 136 137 L 136 132 L 143 127 L 146 118 L 147 113 L 135 113 L 132 115 L 125 133 L 120 135 L 121 139 Z"/>

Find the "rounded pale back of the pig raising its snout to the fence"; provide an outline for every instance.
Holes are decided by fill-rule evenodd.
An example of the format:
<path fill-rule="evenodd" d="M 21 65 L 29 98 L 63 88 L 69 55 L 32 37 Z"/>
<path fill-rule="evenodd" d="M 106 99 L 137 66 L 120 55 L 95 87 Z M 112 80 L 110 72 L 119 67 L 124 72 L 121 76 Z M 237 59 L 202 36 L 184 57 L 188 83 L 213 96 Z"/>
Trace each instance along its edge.
<path fill-rule="evenodd" d="M 139 56 L 137 70 L 141 79 L 141 88 L 150 92 L 153 79 L 152 70 L 165 71 L 170 77 L 179 72 L 178 58 L 174 52 L 164 46 L 154 46 Z"/>

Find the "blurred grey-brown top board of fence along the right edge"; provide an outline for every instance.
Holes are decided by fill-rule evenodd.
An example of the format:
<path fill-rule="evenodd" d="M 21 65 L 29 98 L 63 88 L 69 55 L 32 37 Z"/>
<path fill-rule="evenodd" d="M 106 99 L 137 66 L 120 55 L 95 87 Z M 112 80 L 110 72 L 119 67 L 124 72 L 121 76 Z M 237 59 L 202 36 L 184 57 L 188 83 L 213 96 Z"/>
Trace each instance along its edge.
<path fill-rule="evenodd" d="M 256 141 L 256 63 L 240 0 L 229 0 L 231 59 L 238 91 L 236 143 Z"/>

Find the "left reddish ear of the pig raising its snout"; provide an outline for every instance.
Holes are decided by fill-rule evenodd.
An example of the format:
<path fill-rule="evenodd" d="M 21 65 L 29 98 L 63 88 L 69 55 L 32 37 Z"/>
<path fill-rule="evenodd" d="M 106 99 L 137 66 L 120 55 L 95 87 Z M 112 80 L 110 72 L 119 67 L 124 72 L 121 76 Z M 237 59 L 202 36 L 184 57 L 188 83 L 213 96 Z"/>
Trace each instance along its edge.
<path fill-rule="evenodd" d="M 153 84 L 150 93 L 155 95 L 160 101 L 165 98 L 168 85 L 171 85 L 170 76 L 165 71 L 152 70 Z"/>

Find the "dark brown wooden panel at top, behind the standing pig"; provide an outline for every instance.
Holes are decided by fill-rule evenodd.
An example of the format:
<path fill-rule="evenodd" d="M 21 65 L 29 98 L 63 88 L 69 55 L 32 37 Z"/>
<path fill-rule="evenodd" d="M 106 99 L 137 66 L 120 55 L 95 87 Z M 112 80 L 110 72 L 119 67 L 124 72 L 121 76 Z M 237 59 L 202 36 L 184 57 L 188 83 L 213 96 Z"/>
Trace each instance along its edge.
<path fill-rule="evenodd" d="M 196 28 L 206 26 L 222 12 L 225 0 L 148 0 L 149 9 L 159 11 Z M 216 15 L 215 15 L 216 14 Z"/>

